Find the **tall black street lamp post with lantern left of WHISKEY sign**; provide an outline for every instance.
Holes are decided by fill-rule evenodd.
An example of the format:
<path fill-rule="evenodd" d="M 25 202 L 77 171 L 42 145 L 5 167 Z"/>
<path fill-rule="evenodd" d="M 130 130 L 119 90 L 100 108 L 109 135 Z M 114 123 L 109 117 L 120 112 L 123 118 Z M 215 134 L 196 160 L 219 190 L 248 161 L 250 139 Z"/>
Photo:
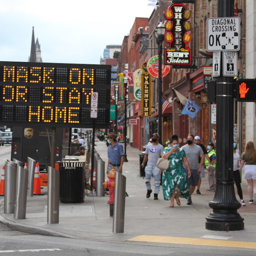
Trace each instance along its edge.
<path fill-rule="evenodd" d="M 159 143 L 162 144 L 162 52 L 165 26 L 160 21 L 155 30 L 156 41 L 158 45 L 158 134 Z"/>

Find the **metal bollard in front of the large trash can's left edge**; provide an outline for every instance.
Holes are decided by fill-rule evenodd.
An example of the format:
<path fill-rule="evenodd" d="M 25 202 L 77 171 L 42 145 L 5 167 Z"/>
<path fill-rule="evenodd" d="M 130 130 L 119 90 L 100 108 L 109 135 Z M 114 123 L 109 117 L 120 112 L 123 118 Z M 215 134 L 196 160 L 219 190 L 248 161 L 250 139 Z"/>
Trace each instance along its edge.
<path fill-rule="evenodd" d="M 60 172 L 48 166 L 47 224 L 59 223 Z"/>

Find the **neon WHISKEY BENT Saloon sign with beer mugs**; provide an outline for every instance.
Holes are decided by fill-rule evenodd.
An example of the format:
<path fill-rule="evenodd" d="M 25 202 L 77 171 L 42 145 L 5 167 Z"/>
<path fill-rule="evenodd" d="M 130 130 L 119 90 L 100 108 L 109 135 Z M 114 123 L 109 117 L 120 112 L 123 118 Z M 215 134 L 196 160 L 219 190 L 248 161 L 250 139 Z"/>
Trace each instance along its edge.
<path fill-rule="evenodd" d="M 175 3 L 165 10 L 165 39 L 169 47 L 165 49 L 166 65 L 191 65 L 191 49 L 187 44 L 192 35 L 189 21 L 191 12 L 181 3 Z"/>

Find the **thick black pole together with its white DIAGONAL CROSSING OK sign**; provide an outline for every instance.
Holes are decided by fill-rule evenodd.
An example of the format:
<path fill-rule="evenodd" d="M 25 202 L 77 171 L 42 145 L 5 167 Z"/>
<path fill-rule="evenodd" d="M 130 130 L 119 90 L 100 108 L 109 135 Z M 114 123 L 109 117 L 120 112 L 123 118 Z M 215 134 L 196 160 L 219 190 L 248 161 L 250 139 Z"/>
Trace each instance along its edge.
<path fill-rule="evenodd" d="M 217 7 L 218 18 L 208 19 L 207 50 L 238 51 L 240 19 L 230 17 L 234 14 L 234 0 L 218 0 Z M 237 212 L 241 204 L 236 199 L 233 180 L 234 82 L 233 77 L 223 75 L 216 81 L 216 192 L 209 202 L 212 212 L 206 218 L 205 227 L 218 231 L 243 230 L 244 218 Z"/>

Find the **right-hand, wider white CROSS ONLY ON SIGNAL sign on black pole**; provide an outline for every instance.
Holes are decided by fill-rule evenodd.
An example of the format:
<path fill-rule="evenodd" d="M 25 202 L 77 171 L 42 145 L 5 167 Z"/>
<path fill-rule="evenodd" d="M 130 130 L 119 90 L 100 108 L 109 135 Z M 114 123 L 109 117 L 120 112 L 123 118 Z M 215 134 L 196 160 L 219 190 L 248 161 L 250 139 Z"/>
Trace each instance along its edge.
<path fill-rule="evenodd" d="M 237 52 L 223 52 L 223 76 L 237 76 Z"/>

